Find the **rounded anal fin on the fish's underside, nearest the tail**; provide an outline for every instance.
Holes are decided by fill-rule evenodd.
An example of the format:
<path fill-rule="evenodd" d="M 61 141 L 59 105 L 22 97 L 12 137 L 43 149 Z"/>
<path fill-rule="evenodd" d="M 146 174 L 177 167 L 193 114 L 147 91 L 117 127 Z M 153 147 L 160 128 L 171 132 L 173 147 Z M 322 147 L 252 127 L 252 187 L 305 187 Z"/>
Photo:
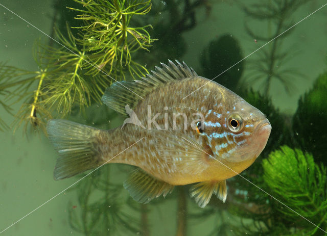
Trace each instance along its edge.
<path fill-rule="evenodd" d="M 141 168 L 137 168 L 124 181 L 124 188 L 128 190 L 131 197 L 139 203 L 148 203 L 153 198 L 171 193 L 173 185 L 159 180 Z"/>

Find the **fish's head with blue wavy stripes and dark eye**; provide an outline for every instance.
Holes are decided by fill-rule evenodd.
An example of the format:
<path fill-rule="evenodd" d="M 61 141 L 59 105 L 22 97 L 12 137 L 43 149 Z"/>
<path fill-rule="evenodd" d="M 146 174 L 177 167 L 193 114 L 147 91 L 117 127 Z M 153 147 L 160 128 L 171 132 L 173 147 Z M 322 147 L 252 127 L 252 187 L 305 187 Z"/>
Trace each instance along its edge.
<path fill-rule="evenodd" d="M 243 162 L 257 158 L 267 144 L 269 120 L 241 97 L 205 117 L 202 135 L 216 158 Z"/>

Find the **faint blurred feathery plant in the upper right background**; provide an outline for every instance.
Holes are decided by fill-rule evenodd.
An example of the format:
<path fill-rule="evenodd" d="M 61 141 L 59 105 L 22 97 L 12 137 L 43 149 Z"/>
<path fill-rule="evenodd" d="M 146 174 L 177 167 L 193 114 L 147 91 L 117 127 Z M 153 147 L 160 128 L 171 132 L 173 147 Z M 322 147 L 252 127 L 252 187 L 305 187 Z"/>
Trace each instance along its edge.
<path fill-rule="evenodd" d="M 247 23 L 245 29 L 247 33 L 258 42 L 258 45 L 271 41 L 267 46 L 260 49 L 256 53 L 256 59 L 249 59 L 246 80 L 250 83 L 258 83 L 261 81 L 261 88 L 265 94 L 269 93 L 272 80 L 282 83 L 285 90 L 290 93 L 294 84 L 294 79 L 302 76 L 294 68 L 284 66 L 290 60 L 290 55 L 294 55 L 296 51 L 290 47 L 283 48 L 283 40 L 292 32 L 288 30 L 293 24 L 290 21 L 292 14 L 303 4 L 308 3 L 307 0 L 272 0 L 262 1 L 259 4 L 251 4 L 249 6 L 242 5 L 243 11 L 256 22 L 268 23 L 268 35 L 255 33 Z M 287 32 L 285 32 L 288 30 Z M 285 32 L 285 33 L 283 33 Z M 283 33 L 283 34 L 282 34 Z M 256 45 L 256 44 L 255 44 Z M 290 54 L 292 50 L 292 54 Z M 282 66 L 283 65 L 283 66 Z"/>

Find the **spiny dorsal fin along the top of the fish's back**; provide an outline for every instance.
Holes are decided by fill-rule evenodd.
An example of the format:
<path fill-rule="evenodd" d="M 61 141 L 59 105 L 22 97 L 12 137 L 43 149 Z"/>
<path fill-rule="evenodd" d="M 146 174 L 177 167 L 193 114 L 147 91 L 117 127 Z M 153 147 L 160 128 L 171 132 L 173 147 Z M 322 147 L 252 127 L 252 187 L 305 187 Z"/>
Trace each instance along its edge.
<path fill-rule="evenodd" d="M 115 82 L 106 89 L 101 100 L 109 108 L 126 115 L 125 106 L 134 110 L 137 103 L 143 100 L 151 91 L 166 83 L 198 76 L 184 62 L 176 64 L 169 60 L 168 65 L 161 63 L 161 68 L 155 67 L 150 74 L 139 81 Z"/>

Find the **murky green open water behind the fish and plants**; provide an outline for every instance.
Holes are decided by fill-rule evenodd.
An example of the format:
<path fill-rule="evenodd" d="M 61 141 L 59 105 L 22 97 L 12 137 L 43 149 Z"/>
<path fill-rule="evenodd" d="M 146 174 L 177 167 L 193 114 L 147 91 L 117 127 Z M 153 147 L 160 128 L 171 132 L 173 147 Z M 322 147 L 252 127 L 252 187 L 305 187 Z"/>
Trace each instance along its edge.
<path fill-rule="evenodd" d="M 0 2 L 0 4 L 19 15 L 22 19 L 30 22 L 30 24 L 25 22 L 0 6 L 1 62 L 7 62 L 8 65 L 26 70 L 38 69 L 33 61 L 32 47 L 34 41 L 38 38 L 45 41 L 51 40 L 42 32 L 51 34 L 54 2 L 50 0 L 2 0 Z M 66 2 L 69 5 L 70 1 Z M 161 1 L 160 4 L 172 4 L 173 2 Z M 253 3 L 260 3 L 262 1 L 251 0 L 240 2 L 250 6 Z M 265 2 L 270 3 L 274 1 Z M 289 27 L 326 3 L 326 1 L 315 0 L 303 4 L 287 19 L 288 22 L 292 22 Z M 236 4 L 234 1 L 211 1 L 207 4 L 211 8 L 210 14 L 208 15 L 204 7 L 195 8 L 196 25 L 190 31 L 182 33 L 181 36 L 185 40 L 185 53 L 178 58 L 193 67 L 199 75 L 201 75 L 199 55 L 201 55 L 203 48 L 210 41 L 222 35 L 228 34 L 231 38 L 237 39 L 242 50 L 243 58 L 268 42 L 257 40 L 250 36 L 246 31 L 245 25 L 249 25 L 250 29 L 256 34 L 267 36 L 274 30 L 274 20 L 268 22 L 252 19 L 244 13 L 240 4 Z M 177 10 L 182 11 L 180 8 Z M 282 47 L 287 52 L 289 58 L 285 63 L 278 66 L 286 69 L 292 68 L 294 71 L 302 74 L 302 76 L 294 79 L 295 86 L 291 86 L 290 93 L 285 91 L 282 83 L 276 80 L 272 80 L 271 82 L 269 96 L 271 97 L 272 103 L 286 115 L 291 116 L 294 114 L 300 95 L 307 92 L 312 87 L 317 76 L 326 71 L 326 14 L 327 6 L 295 25 L 290 34 L 287 34 L 283 38 Z M 158 20 L 164 21 L 165 17 L 159 17 Z M 31 24 L 39 30 L 35 29 Z M 151 31 L 149 32 L 151 34 Z M 176 32 L 176 34 L 179 33 Z M 160 40 L 160 35 L 153 37 L 157 37 Z M 56 43 L 54 42 L 54 44 Z M 265 45 L 264 48 L 269 48 L 271 45 L 272 42 Z M 150 48 L 150 50 L 152 49 Z M 250 65 L 249 60 L 258 59 L 258 53 L 260 53 L 260 50 L 243 61 L 245 64 L 241 77 L 241 81 L 247 87 L 253 87 L 254 91 L 261 89 L 261 85 L 260 83 L 249 84 L 250 82 L 247 81 L 247 77 L 250 71 L 247 66 Z M 165 61 L 162 62 L 166 63 L 168 59 L 173 60 L 174 58 L 166 57 Z M 159 65 L 160 62 L 155 61 L 155 58 L 148 60 L 148 64 L 150 65 Z M 235 61 L 235 63 L 237 62 Z M 235 68 L 238 68 L 238 65 Z M 218 74 L 219 72 L 217 72 Z M 219 80 L 217 81 L 219 82 Z M 31 90 L 36 89 L 36 87 L 36 84 L 33 85 Z M 0 97 L 0 99 L 4 98 L 5 96 Z M 20 104 L 13 104 L 11 107 L 15 114 Z M 8 124 L 14 119 L 1 106 L 0 115 Z M 123 121 L 121 118 L 114 117 L 114 115 L 108 119 L 111 121 L 110 127 L 118 126 Z M 83 122 L 82 118 L 81 122 Z M 317 139 L 319 139 L 319 136 L 317 136 Z M 77 214 L 82 212 L 83 206 L 78 204 L 78 192 L 76 190 L 67 190 L 57 195 L 75 183 L 78 177 L 62 181 L 53 180 L 53 169 L 57 154 L 48 139 L 42 133 L 40 135 L 30 133 L 23 136 L 21 127 L 14 134 L 13 130 L 5 130 L 4 132 L 0 132 L 0 150 L 0 231 L 19 220 L 19 222 L 4 231 L 2 233 L 3 235 L 85 235 L 73 229 L 68 221 L 68 209 L 74 206 L 74 211 Z M 121 184 L 126 178 L 125 172 L 130 169 L 124 168 L 115 166 L 110 172 L 110 176 L 115 183 Z M 235 178 L 237 180 L 239 176 Z M 255 179 L 250 180 L 256 183 Z M 123 187 L 121 188 L 122 199 L 127 199 L 127 191 Z M 165 201 L 158 201 L 155 204 L 149 203 L 147 205 L 147 210 L 149 211 L 149 235 L 176 235 L 178 211 L 177 192 L 175 190 L 173 195 Z M 231 195 L 233 193 L 229 192 L 227 199 Z M 273 201 L 271 198 L 270 200 Z M 236 235 L 232 228 L 229 227 L 229 224 L 241 227 L 238 212 L 225 211 L 224 206 L 220 203 L 218 208 L 214 208 L 213 213 L 209 214 L 208 217 L 201 217 L 201 213 L 204 213 L 202 209 L 198 208 L 188 196 L 186 196 L 186 201 L 188 203 L 189 213 L 193 213 L 193 215 L 186 214 L 186 219 L 188 219 L 186 224 L 187 235 L 209 235 L 210 233 L 213 233 L 212 235 L 227 235 L 227 233 L 229 235 Z M 42 205 L 45 202 L 46 204 Z M 276 207 L 280 207 L 278 203 L 276 205 Z M 75 208 L 75 206 L 77 207 Z M 36 209 L 37 207 L 39 208 Z M 210 207 L 212 205 L 207 206 L 207 208 Z M 36 211 L 32 212 L 34 209 Z M 129 208 L 127 207 L 127 214 L 129 214 L 128 211 Z M 31 214 L 26 216 L 29 213 Z M 133 217 L 139 218 L 135 211 L 132 211 L 130 214 Z M 194 214 L 199 215 L 194 216 Z M 21 219 L 23 217 L 24 219 Z M 252 221 L 250 219 L 244 218 L 244 220 L 246 224 L 251 225 Z M 222 224 L 227 225 L 224 227 L 225 229 L 222 230 L 221 228 L 221 231 L 215 231 L 217 226 Z M 142 231 L 113 231 L 111 228 L 108 228 L 109 234 L 139 235 L 142 234 Z M 316 235 L 323 235 L 323 232 L 318 232 Z"/>

